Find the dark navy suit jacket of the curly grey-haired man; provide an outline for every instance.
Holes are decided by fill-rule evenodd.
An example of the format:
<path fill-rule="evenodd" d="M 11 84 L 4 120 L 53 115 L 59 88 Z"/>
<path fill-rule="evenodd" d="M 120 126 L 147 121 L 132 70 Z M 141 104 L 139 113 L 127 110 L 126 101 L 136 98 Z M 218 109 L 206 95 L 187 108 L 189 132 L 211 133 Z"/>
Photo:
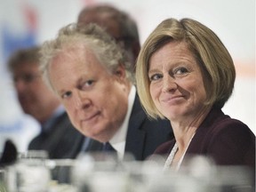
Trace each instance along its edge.
<path fill-rule="evenodd" d="M 125 153 L 130 153 L 136 160 L 145 160 L 156 148 L 167 140 L 172 140 L 172 127 L 168 120 L 149 120 L 141 108 L 136 95 L 132 107 L 126 135 Z M 102 144 L 93 140 L 86 151 L 102 150 Z"/>

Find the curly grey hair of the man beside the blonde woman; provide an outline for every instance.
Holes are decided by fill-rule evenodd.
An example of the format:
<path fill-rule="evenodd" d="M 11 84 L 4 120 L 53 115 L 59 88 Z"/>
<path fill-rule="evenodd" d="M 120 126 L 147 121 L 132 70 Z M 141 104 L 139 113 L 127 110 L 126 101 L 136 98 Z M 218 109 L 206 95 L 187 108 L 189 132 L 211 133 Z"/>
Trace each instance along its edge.
<path fill-rule="evenodd" d="M 109 36 L 97 24 L 77 25 L 72 23 L 64 28 L 60 28 L 58 36 L 51 41 L 44 42 L 40 51 L 40 70 L 43 74 L 44 82 L 52 91 L 54 91 L 54 88 L 49 76 L 49 66 L 52 63 L 52 59 L 60 54 L 60 52 L 67 51 L 67 49 L 76 50 L 81 48 L 84 51 L 89 50 L 94 53 L 100 64 L 110 74 L 113 74 L 120 65 L 124 66 L 127 79 L 134 84 L 131 64 L 125 57 L 124 49 L 116 44 L 113 37 Z"/>

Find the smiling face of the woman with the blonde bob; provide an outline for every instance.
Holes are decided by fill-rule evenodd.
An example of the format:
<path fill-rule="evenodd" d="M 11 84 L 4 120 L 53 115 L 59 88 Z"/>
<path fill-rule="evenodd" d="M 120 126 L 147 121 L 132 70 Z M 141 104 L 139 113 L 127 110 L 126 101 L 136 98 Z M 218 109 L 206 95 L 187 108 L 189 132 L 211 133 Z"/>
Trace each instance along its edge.
<path fill-rule="evenodd" d="M 195 119 L 204 109 L 204 79 L 184 42 L 170 42 L 149 60 L 150 94 L 156 108 L 169 120 Z"/>

